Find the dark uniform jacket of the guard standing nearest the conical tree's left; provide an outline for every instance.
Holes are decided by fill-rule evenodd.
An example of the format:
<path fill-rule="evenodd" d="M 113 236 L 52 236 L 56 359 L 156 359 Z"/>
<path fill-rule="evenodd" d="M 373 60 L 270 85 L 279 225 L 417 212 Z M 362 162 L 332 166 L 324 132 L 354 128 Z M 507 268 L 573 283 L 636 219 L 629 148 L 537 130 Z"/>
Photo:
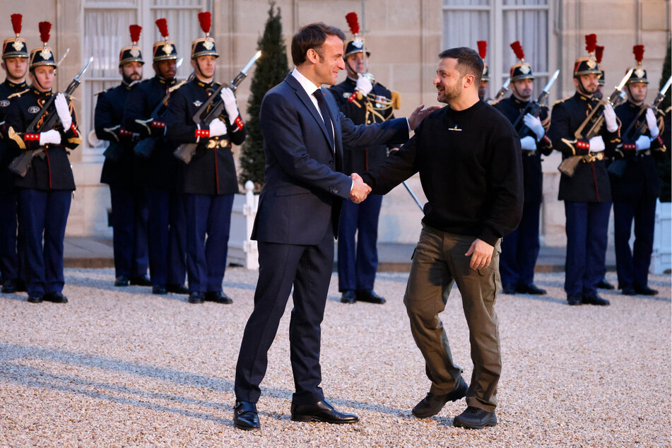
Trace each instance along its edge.
<path fill-rule="evenodd" d="M 210 137 L 208 124 L 196 126 L 194 114 L 219 88 L 217 83 L 204 83 L 194 79 L 175 90 L 170 96 L 170 109 L 166 114 L 167 133 L 177 145 L 197 143 L 196 153 L 189 164 L 181 164 L 179 188 L 183 193 L 235 194 L 238 192 L 235 163 L 231 143 L 240 145 L 245 140 L 241 119 L 234 126 L 223 110 L 219 119 L 226 125 L 226 134 Z M 213 102 L 220 100 L 215 98 Z M 211 103 L 212 105 L 212 103 Z M 240 117 L 240 116 L 239 116 Z"/>

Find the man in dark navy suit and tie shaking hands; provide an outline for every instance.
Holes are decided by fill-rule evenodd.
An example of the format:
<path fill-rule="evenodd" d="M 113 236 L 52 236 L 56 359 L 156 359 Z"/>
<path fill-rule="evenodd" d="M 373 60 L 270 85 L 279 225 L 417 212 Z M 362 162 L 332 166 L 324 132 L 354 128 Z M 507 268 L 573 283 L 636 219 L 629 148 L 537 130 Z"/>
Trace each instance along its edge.
<path fill-rule="evenodd" d="M 336 411 L 319 387 L 320 323 L 334 266 L 334 237 L 343 199 L 363 201 L 370 189 L 343 174 L 343 147 L 403 143 L 408 128 L 433 108 L 420 107 L 406 119 L 355 126 L 338 112 L 322 84 L 335 84 L 343 63 L 345 35 L 313 23 L 292 39 L 296 66 L 264 96 L 259 112 L 266 173 L 252 239 L 259 242 L 259 281 L 236 365 L 233 422 L 259 429 L 259 384 L 267 352 L 294 288 L 290 351 L 295 421 L 355 423 L 356 415 Z"/>

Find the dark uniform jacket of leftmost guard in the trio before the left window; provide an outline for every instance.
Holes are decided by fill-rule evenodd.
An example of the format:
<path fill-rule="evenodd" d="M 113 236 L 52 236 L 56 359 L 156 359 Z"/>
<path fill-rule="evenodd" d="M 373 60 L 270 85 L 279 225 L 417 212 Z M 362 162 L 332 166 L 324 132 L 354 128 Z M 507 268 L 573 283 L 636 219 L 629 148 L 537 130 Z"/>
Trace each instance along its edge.
<path fill-rule="evenodd" d="M 133 147 L 137 138 L 122 126 L 124 107 L 131 88 L 132 86 L 122 82 L 119 86 L 100 93 L 93 117 L 95 136 L 100 140 L 109 141 L 110 149 L 119 153 L 118 158 L 105 158 L 100 182 L 126 189 L 134 187 L 136 171 Z"/>

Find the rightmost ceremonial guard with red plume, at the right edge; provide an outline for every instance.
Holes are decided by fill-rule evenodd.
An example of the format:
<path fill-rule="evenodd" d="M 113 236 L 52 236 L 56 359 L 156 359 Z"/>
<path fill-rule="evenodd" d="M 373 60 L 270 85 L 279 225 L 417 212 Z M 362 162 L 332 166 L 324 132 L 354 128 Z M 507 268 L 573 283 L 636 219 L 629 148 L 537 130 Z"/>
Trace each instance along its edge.
<path fill-rule="evenodd" d="M 656 295 L 649 288 L 649 264 L 654 244 L 656 198 L 660 191 L 653 153 L 666 151 L 654 109 L 644 104 L 649 80 L 642 66 L 644 45 L 632 49 L 637 60 L 625 85 L 627 101 L 616 107 L 621 141 L 609 167 L 613 199 L 614 243 L 618 288 L 625 295 Z M 662 122 L 662 118 L 660 119 Z M 635 221 L 635 244 L 630 232 Z"/>

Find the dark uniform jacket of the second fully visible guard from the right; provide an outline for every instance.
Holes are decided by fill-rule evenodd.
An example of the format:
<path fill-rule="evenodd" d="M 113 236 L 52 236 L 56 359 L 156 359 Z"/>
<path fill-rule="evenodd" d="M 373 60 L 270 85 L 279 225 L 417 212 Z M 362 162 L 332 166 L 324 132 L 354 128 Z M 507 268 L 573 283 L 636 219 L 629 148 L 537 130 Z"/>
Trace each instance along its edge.
<path fill-rule="evenodd" d="M 562 160 L 573 155 L 589 153 L 588 141 L 577 139 L 574 137 L 574 132 L 579 129 L 597 102 L 596 98 L 588 98 L 577 92 L 574 96 L 553 105 L 548 137 L 553 142 L 553 148 L 562 152 Z M 606 124 L 603 124 L 599 135 L 602 136 L 605 147 L 602 157 L 613 157 L 616 146 L 620 143 L 618 130 L 608 132 Z M 611 201 L 611 186 L 606 160 L 603 158 L 588 163 L 579 163 L 572 177 L 560 175 L 558 199 L 576 202 Z"/>

